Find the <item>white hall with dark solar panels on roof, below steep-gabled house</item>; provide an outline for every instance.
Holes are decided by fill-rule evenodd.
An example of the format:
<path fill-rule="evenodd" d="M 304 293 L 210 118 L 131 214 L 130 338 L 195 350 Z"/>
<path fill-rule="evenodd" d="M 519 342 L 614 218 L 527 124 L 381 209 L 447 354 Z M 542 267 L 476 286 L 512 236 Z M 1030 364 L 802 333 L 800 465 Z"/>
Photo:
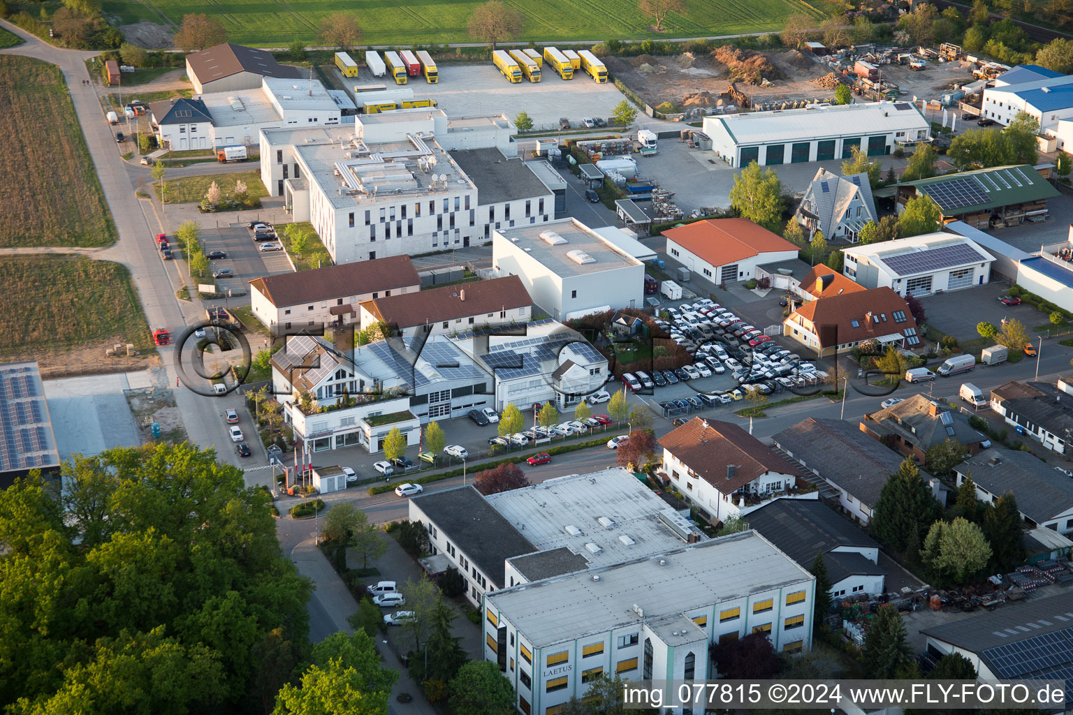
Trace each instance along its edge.
<path fill-rule="evenodd" d="M 983 285 L 990 280 L 991 254 L 971 239 L 936 233 L 842 249 L 842 272 L 866 288 L 891 288 L 899 296 L 930 295 Z"/>

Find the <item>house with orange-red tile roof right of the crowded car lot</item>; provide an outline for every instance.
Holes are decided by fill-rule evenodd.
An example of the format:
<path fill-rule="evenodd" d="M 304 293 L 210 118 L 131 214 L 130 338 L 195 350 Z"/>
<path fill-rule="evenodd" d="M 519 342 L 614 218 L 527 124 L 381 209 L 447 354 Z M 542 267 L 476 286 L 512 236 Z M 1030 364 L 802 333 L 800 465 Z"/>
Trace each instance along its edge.
<path fill-rule="evenodd" d="M 847 353 L 866 340 L 877 340 L 883 347 L 921 344 L 909 304 L 887 287 L 806 302 L 782 322 L 782 334 L 820 357 Z"/>

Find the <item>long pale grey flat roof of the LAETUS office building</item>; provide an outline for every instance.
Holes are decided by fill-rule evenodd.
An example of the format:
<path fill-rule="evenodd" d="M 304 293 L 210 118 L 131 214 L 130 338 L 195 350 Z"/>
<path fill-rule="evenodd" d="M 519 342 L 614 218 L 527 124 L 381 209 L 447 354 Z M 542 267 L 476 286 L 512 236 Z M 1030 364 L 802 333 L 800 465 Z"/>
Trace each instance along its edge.
<path fill-rule="evenodd" d="M 600 580 L 593 580 L 599 576 Z M 748 531 L 485 598 L 541 649 L 814 578 Z M 634 612 L 637 606 L 644 619 Z"/>

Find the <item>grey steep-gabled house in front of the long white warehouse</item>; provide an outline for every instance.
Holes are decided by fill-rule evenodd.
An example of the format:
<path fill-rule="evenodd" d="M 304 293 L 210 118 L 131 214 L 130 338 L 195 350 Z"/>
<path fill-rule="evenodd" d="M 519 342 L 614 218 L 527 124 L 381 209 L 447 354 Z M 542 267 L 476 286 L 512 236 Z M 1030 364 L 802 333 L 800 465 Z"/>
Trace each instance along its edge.
<path fill-rule="evenodd" d="M 809 236 L 820 230 L 828 241 L 844 239 L 856 243 L 864 225 L 877 220 L 868 174 L 838 176 L 825 168 L 818 169 L 794 218 L 808 229 Z"/>

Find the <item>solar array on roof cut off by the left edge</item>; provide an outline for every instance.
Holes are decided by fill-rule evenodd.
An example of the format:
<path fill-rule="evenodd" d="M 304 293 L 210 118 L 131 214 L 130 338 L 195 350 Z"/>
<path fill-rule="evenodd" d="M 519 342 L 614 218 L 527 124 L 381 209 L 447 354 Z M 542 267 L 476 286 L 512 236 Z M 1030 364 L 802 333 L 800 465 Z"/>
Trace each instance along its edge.
<path fill-rule="evenodd" d="M 59 464 L 35 364 L 0 368 L 0 471 Z"/>

